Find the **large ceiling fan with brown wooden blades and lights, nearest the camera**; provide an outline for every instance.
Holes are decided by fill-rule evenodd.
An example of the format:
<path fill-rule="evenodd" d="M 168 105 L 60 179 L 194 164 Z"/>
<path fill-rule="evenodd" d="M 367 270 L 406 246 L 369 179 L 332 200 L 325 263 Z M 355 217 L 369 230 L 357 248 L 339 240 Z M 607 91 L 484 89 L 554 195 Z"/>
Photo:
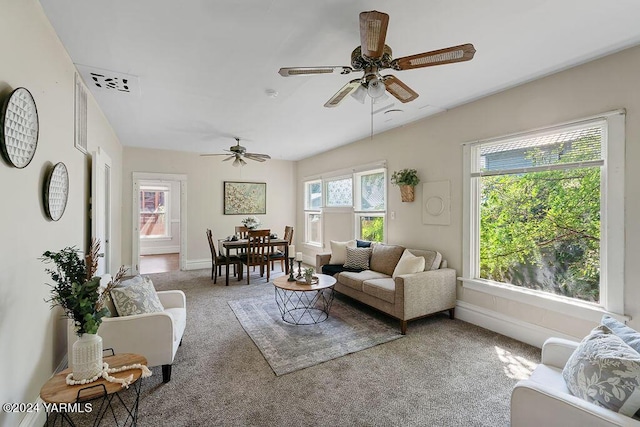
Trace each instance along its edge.
<path fill-rule="evenodd" d="M 353 71 L 363 71 L 363 77 L 351 80 L 324 104 L 329 108 L 340 104 L 347 95 L 352 95 L 361 103 L 364 103 L 367 94 L 374 101 L 385 98 L 385 89 L 399 101 L 410 102 L 416 99 L 418 94 L 397 77 L 380 75 L 381 70 L 390 68 L 403 71 L 469 61 L 476 52 L 473 45 L 467 43 L 392 59 L 391 48 L 384 44 L 388 24 L 389 15 L 384 12 L 372 10 L 360 13 L 360 46 L 351 52 L 351 67 L 286 67 L 280 68 L 279 73 L 283 77 L 289 77 L 311 74 L 350 74 Z"/>

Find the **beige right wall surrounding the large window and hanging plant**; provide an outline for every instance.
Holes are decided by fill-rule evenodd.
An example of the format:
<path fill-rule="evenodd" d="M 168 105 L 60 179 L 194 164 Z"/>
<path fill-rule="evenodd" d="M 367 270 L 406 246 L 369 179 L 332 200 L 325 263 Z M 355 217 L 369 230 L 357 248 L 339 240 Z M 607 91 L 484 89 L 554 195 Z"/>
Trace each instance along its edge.
<path fill-rule="evenodd" d="M 449 266 L 462 273 L 462 147 L 464 142 L 502 136 L 625 108 L 626 221 L 625 314 L 640 329 L 640 47 L 463 105 L 429 119 L 300 161 L 298 170 L 311 176 L 332 169 L 386 159 L 389 172 L 416 168 L 422 181 L 451 182 L 451 225 L 422 224 L 421 187 L 414 203 L 402 203 L 397 187 L 389 187 L 388 242 L 441 251 Z M 422 94 L 428 96 L 428 94 Z M 302 173 L 298 179 L 302 180 Z M 302 185 L 298 186 L 303 194 Z M 298 198 L 298 211 L 303 197 Z M 303 224 L 298 215 L 298 226 Z M 311 248 L 308 248 L 311 252 Z M 480 292 L 458 288 L 461 301 L 535 327 L 580 337 L 591 322 Z"/>

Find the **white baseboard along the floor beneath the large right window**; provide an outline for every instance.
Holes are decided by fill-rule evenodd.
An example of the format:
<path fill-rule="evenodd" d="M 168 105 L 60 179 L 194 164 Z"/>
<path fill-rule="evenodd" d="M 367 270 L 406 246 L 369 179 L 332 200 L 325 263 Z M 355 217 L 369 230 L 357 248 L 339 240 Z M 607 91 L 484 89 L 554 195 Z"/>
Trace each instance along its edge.
<path fill-rule="evenodd" d="M 514 317 L 460 300 L 456 302 L 456 319 L 464 320 L 539 348 L 542 348 L 542 344 L 550 337 L 566 338 L 573 341 L 582 339 L 534 325 L 533 323 L 523 322 Z"/>

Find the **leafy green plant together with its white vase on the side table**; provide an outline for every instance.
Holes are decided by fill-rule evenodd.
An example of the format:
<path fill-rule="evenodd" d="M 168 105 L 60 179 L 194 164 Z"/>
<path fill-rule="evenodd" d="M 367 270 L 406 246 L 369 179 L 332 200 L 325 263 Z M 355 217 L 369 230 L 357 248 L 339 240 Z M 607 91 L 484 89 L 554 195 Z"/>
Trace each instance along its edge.
<path fill-rule="evenodd" d="M 71 365 L 73 379 L 92 381 L 102 372 L 102 338 L 97 335 L 102 318 L 109 315 L 105 299 L 125 274 L 120 270 L 113 280 L 100 290 L 100 277 L 94 276 L 98 267 L 100 243 L 91 242 L 84 260 L 78 255 L 78 249 L 66 247 L 58 252 L 46 251 L 41 261 L 54 264 L 55 268 L 46 268 L 55 284 L 51 287 L 51 298 L 46 300 L 51 308 L 59 306 L 66 317 L 71 319 L 79 339 L 73 345 Z"/>

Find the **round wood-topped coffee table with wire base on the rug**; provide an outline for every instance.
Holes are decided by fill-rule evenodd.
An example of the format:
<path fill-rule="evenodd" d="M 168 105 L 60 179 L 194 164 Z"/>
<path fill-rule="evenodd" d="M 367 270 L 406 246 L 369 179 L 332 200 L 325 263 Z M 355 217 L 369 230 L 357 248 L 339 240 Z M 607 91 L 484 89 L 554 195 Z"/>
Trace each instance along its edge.
<path fill-rule="evenodd" d="M 289 276 L 273 280 L 276 304 L 282 320 L 293 325 L 312 325 L 329 317 L 333 303 L 336 279 L 326 274 L 316 274 L 312 284 L 289 281 Z"/>

